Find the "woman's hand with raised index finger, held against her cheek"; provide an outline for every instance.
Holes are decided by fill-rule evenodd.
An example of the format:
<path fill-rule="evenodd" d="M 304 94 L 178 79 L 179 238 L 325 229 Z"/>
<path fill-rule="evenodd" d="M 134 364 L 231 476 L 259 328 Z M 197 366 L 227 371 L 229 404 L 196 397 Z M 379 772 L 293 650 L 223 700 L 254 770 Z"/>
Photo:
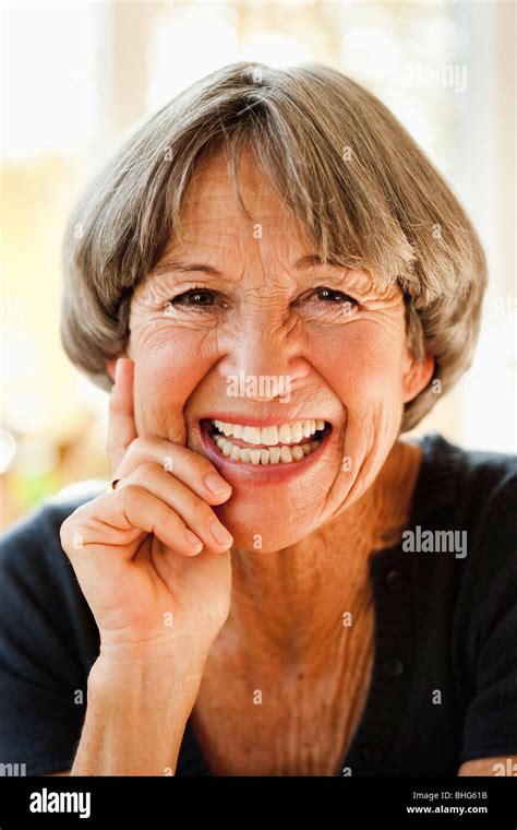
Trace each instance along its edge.
<path fill-rule="evenodd" d="M 101 654 L 203 659 L 230 607 L 232 538 L 211 505 L 231 487 L 203 455 L 136 436 L 133 370 L 119 358 L 110 398 L 107 454 L 119 482 L 68 517 L 61 544 Z"/>

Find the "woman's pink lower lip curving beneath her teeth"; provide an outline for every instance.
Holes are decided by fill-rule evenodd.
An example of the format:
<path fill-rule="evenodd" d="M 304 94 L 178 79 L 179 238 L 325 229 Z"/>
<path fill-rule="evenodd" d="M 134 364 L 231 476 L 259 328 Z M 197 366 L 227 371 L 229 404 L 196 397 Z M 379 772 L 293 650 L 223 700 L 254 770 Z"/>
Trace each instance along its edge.
<path fill-rule="evenodd" d="M 304 455 L 300 461 L 289 461 L 287 464 L 281 462 L 278 464 L 251 464 L 244 461 L 229 459 L 227 455 L 223 455 L 220 450 L 216 447 L 211 438 L 209 430 L 209 422 L 201 422 L 200 432 L 205 453 L 214 465 L 223 472 L 223 475 L 230 482 L 230 484 L 232 479 L 240 482 L 253 479 L 254 484 L 266 484 L 285 481 L 289 477 L 294 478 L 300 475 L 300 473 L 309 470 L 312 464 L 317 463 L 317 460 L 322 458 L 328 446 L 332 426 L 329 424 L 325 425 L 325 429 L 322 432 L 322 442 L 317 450 L 314 450 L 309 455 Z"/>

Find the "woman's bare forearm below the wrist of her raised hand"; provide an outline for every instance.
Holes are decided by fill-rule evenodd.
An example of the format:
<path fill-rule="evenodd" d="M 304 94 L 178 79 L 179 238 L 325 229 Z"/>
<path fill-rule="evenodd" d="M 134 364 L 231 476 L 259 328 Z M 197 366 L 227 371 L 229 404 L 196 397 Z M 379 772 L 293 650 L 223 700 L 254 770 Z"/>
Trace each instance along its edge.
<path fill-rule="evenodd" d="M 170 656 L 99 657 L 71 774 L 175 774 L 203 668 Z"/>

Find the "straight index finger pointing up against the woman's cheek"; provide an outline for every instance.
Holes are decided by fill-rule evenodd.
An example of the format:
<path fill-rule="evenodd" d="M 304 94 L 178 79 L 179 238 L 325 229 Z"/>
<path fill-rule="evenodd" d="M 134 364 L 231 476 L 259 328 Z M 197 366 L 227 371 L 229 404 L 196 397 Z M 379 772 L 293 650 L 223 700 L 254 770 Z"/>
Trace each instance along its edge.
<path fill-rule="evenodd" d="M 106 454 L 115 471 L 131 441 L 136 438 L 133 408 L 134 363 L 119 357 L 115 384 L 109 399 L 108 438 Z"/>

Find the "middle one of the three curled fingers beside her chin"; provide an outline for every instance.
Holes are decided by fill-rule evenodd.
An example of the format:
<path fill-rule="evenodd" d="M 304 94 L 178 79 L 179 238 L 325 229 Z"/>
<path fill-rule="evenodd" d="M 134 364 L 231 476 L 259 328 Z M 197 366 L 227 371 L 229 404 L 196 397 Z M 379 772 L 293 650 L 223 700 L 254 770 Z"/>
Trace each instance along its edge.
<path fill-rule="evenodd" d="M 228 550 L 233 543 L 233 537 L 206 501 L 203 501 L 178 478 L 166 473 L 159 464 L 155 462 L 142 464 L 125 476 L 118 488 L 127 487 L 129 484 L 137 485 L 152 493 L 156 498 L 161 499 L 178 513 L 185 525 L 202 540 L 205 547 L 212 553 Z"/>

